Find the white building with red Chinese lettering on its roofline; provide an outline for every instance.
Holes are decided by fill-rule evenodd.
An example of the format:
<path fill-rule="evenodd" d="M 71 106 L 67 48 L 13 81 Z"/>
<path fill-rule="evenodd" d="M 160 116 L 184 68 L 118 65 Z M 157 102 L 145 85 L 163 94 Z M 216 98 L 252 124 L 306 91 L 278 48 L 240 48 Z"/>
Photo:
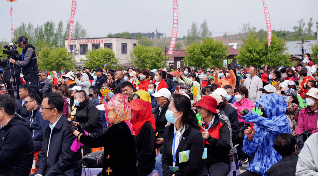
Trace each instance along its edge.
<path fill-rule="evenodd" d="M 68 39 L 64 40 L 65 46 L 68 46 Z M 75 44 L 75 47 L 74 47 Z M 116 58 L 119 58 L 119 64 L 129 62 L 129 53 L 133 47 L 138 44 L 138 38 L 126 37 L 98 37 L 98 38 L 78 38 L 71 40 L 70 49 L 74 54 L 76 64 L 83 64 L 80 59 L 85 59 L 88 50 L 98 49 L 99 47 L 110 48 L 114 51 Z M 74 50 L 75 48 L 75 50 Z M 75 52 L 74 52 L 75 51 Z"/>

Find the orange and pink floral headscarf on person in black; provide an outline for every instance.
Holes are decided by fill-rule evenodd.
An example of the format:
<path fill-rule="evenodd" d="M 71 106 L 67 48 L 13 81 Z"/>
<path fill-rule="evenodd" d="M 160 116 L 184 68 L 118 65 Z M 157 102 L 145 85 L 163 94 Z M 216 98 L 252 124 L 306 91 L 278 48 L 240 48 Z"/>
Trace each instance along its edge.
<path fill-rule="evenodd" d="M 135 135 L 133 127 L 130 123 L 131 110 L 128 104 L 128 98 L 126 95 L 117 93 L 107 103 L 104 104 L 105 116 L 107 124 L 115 125 L 119 122 L 125 122 L 132 135 Z"/>

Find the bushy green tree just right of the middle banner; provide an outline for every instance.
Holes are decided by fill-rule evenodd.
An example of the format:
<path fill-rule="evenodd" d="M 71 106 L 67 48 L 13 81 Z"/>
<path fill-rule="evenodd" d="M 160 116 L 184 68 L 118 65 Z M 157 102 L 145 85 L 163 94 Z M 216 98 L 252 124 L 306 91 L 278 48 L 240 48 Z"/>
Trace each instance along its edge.
<path fill-rule="evenodd" d="M 230 55 L 227 51 L 228 47 L 222 41 L 205 38 L 202 43 L 190 44 L 185 49 L 187 55 L 182 61 L 196 68 L 223 67 L 223 60 Z"/>

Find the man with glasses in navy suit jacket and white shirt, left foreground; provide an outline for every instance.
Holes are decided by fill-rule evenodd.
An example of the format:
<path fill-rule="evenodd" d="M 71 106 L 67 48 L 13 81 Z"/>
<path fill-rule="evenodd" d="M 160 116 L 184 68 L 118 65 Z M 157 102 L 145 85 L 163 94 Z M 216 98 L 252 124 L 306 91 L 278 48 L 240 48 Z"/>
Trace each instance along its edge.
<path fill-rule="evenodd" d="M 40 112 L 43 119 L 50 123 L 43 130 L 42 150 L 38 155 L 38 170 L 34 176 L 69 176 L 80 175 L 82 172 L 81 150 L 73 152 L 70 149 L 76 136 L 66 128 L 67 118 L 63 114 L 63 104 L 63 98 L 57 93 L 44 95 Z"/>

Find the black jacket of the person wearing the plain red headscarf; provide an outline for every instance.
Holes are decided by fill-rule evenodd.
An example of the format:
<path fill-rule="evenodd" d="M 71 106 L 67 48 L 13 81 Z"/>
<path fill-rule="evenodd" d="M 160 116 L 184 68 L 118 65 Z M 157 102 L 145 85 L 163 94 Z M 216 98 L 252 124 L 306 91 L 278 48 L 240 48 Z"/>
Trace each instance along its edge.
<path fill-rule="evenodd" d="M 149 175 L 156 163 L 155 131 L 150 122 L 146 122 L 136 137 L 139 175 Z"/>

